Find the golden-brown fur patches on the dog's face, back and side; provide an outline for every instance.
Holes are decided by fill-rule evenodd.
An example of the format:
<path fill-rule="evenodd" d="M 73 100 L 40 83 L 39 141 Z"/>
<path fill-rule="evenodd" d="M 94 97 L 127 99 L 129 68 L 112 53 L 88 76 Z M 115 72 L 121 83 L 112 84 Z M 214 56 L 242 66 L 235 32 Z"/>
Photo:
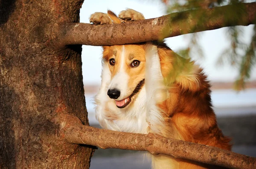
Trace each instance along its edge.
<path fill-rule="evenodd" d="M 119 18 L 113 12 L 108 12 L 108 14 L 114 23 L 119 23 Z M 124 12 L 123 15 L 125 16 Z M 133 18 L 133 20 L 136 20 L 136 18 Z M 168 89 L 167 99 L 157 104 L 164 119 L 163 126 L 159 126 L 161 128 L 160 135 L 230 150 L 230 138 L 225 137 L 218 128 L 215 113 L 212 110 L 211 85 L 207 81 L 207 76 L 203 73 L 203 70 L 189 59 L 184 59 L 175 54 L 165 43 L 153 43 L 157 45 L 161 73 Z M 141 62 L 140 68 L 132 69 L 133 72 L 129 72 L 131 71 L 129 69 L 131 59 L 128 59 L 129 62 L 127 62 L 125 71 L 131 79 L 128 86 L 132 88 L 145 76 L 145 43 L 125 45 L 125 48 L 126 51 L 129 51 L 128 54 L 125 54 L 126 57 L 136 57 Z M 119 62 L 117 56 L 122 51 L 122 45 L 105 46 L 103 49 L 103 60 L 105 62 L 108 62 L 111 58 L 115 58 L 116 63 Z M 113 77 L 119 68 L 109 66 L 109 69 Z M 118 117 L 113 114 L 112 118 L 116 119 Z M 150 131 L 149 125 L 148 132 Z M 180 169 L 216 168 L 216 166 L 194 161 L 174 160 L 166 155 L 155 155 L 154 157 L 156 158 L 153 158 L 153 163 L 160 163 L 162 166 L 173 165 Z M 167 163 L 166 160 L 172 161 L 172 163 Z"/>

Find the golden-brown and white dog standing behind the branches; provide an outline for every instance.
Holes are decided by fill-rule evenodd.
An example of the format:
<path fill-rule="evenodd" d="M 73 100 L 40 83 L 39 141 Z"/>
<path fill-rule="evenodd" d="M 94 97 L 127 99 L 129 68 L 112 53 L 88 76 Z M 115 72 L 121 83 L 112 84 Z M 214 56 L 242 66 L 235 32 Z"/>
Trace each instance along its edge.
<path fill-rule="evenodd" d="M 95 25 L 144 20 L 127 9 L 117 17 L 96 12 Z M 152 132 L 230 150 L 230 138 L 218 128 L 211 85 L 202 68 L 175 54 L 164 42 L 103 46 L 102 83 L 95 96 L 96 118 L 109 130 Z M 151 155 L 154 169 L 216 168 L 167 155 Z"/>

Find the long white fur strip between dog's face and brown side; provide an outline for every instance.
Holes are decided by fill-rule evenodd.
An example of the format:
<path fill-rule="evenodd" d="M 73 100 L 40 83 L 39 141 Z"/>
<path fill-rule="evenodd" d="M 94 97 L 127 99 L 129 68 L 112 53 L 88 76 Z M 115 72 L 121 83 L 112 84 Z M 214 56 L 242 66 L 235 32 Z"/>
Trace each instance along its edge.
<path fill-rule="evenodd" d="M 146 72 L 145 88 L 147 95 L 146 121 L 150 132 L 161 134 L 164 130 L 164 119 L 157 104 L 165 101 L 168 97 L 167 87 L 161 71 L 160 59 L 157 46 L 147 44 L 145 50 Z M 177 169 L 178 162 L 168 155 L 151 155 L 153 169 Z"/>

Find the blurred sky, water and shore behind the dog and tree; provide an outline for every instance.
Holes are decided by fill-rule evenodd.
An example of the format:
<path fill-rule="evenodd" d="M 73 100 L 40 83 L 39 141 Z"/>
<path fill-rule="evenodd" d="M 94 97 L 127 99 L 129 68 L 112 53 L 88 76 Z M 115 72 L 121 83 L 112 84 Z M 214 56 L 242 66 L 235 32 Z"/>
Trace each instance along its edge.
<path fill-rule="evenodd" d="M 80 22 L 89 23 L 88 18 L 94 12 L 106 13 L 111 9 L 118 14 L 125 8 L 143 13 L 146 19 L 163 16 L 168 10 L 160 0 L 85 0 L 80 11 Z M 253 25 L 237 26 L 237 29 L 241 33 L 238 37 L 240 42 L 249 44 L 253 36 Z M 195 47 L 199 47 L 190 51 L 190 57 L 204 68 L 212 83 L 212 102 L 219 127 L 224 135 L 233 138 L 234 152 L 256 157 L 256 67 L 253 66 L 250 71 L 246 88 L 241 91 L 233 90 L 233 84 L 239 77 L 239 66 L 233 64 L 232 60 L 220 58 L 222 55 L 228 55 L 224 51 L 230 48 L 232 42 L 229 35 L 229 28 L 220 28 L 167 38 L 166 43 L 173 51 L 179 53 L 188 49 L 196 39 Z M 101 83 L 102 48 L 85 45 L 82 48 L 82 71 L 88 118 L 91 126 L 99 127 L 95 119 L 92 98 L 98 92 Z M 144 159 L 143 152 L 98 149 L 93 155 L 90 169 L 102 168 L 149 169 L 150 163 L 146 158 Z"/>

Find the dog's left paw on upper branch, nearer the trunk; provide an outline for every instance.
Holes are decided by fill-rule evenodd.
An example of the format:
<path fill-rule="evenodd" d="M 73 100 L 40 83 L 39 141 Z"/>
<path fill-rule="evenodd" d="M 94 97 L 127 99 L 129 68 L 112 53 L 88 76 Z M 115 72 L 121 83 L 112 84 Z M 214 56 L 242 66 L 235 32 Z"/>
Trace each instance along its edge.
<path fill-rule="evenodd" d="M 103 24 L 112 24 L 112 21 L 108 17 L 108 14 L 105 14 L 102 12 L 95 12 L 90 16 L 90 23 L 94 23 L 95 25 L 103 25 Z"/>

